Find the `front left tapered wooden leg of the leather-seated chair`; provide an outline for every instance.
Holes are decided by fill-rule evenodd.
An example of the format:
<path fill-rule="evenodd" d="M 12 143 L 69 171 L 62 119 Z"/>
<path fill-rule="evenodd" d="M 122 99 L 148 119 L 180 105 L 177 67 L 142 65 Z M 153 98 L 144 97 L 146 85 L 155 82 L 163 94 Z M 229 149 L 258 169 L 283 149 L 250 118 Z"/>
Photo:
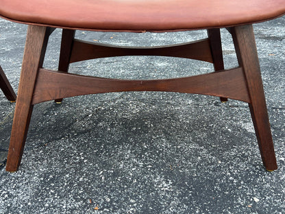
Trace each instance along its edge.
<path fill-rule="evenodd" d="M 45 58 L 48 38 L 49 28 L 29 25 L 8 151 L 7 171 L 16 171 L 21 163 L 32 115 L 33 105 L 31 103 L 36 75 Z"/>

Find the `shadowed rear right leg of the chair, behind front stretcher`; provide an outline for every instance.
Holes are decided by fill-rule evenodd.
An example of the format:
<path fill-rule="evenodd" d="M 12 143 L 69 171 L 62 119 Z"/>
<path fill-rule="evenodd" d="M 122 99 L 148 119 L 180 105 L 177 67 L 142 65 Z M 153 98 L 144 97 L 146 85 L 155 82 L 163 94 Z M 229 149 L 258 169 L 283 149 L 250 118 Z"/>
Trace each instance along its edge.
<path fill-rule="evenodd" d="M 223 71 L 223 49 L 221 44 L 221 32 L 219 28 L 208 29 L 208 38 L 213 58 L 214 71 Z M 226 97 L 220 97 L 221 102 L 227 102 Z"/>

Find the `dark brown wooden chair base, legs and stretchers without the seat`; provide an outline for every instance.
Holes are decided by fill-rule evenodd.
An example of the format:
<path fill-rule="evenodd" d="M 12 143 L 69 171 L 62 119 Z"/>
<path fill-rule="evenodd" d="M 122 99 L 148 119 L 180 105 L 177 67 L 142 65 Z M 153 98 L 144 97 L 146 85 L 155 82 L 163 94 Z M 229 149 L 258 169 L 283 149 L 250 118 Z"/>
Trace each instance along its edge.
<path fill-rule="evenodd" d="M 262 162 L 277 169 L 267 106 L 264 98 L 252 25 L 227 28 L 232 34 L 239 66 L 224 69 L 220 29 L 208 29 L 208 38 L 195 43 L 166 47 L 114 47 L 95 45 L 74 38 L 75 30 L 63 29 L 59 71 L 42 68 L 51 27 L 29 25 L 18 99 L 7 160 L 7 171 L 21 163 L 34 104 L 64 97 L 114 91 L 173 91 L 238 99 L 249 104 Z M 67 73 L 69 64 L 107 56 L 173 56 L 214 64 L 214 72 L 167 80 L 114 80 Z"/>

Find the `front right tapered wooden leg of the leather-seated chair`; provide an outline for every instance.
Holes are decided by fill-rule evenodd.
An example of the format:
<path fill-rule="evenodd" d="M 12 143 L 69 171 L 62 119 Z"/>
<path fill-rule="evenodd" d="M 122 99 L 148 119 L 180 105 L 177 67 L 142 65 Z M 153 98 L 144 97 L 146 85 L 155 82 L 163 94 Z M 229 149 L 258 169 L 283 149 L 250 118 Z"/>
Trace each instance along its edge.
<path fill-rule="evenodd" d="M 243 67 L 251 102 L 249 108 L 253 120 L 262 161 L 267 170 L 277 169 L 267 105 L 260 75 L 260 65 L 252 25 L 232 27 L 232 37 L 238 63 Z"/>

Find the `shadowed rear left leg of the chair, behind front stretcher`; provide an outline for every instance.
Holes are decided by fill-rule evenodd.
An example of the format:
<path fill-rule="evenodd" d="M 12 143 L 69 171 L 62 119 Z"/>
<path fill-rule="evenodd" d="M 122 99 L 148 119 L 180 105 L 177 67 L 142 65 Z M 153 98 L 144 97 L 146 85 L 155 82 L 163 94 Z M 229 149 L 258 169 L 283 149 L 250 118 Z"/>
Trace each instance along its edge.
<path fill-rule="evenodd" d="M 74 36 L 75 30 L 62 29 L 62 44 L 60 47 L 60 62 L 58 64 L 58 71 L 69 71 L 69 62 L 71 59 Z M 60 104 L 62 102 L 62 99 L 55 99 L 55 102 Z"/>

